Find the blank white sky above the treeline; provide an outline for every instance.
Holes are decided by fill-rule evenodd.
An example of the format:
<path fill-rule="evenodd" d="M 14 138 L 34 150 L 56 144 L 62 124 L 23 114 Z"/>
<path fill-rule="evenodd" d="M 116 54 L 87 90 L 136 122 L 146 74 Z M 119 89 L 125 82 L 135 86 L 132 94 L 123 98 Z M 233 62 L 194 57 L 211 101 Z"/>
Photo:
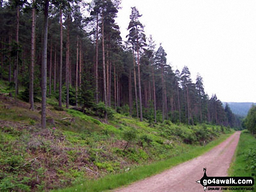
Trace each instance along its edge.
<path fill-rule="evenodd" d="M 256 102 L 256 0 L 123 0 L 116 19 L 125 40 L 136 6 L 147 37 L 162 43 L 167 63 L 187 65 L 195 82 L 222 102 Z"/>

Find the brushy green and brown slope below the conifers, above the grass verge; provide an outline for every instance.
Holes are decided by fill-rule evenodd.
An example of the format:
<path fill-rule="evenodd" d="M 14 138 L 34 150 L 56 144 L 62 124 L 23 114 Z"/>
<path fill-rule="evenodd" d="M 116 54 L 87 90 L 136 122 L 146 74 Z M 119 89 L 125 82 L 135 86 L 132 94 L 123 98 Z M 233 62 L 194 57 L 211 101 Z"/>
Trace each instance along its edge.
<path fill-rule="evenodd" d="M 114 113 L 109 124 L 48 99 L 47 129 L 41 107 L 0 96 L 0 191 L 48 191 L 188 152 L 224 127 L 150 125 Z M 189 145 L 190 144 L 190 145 Z"/>

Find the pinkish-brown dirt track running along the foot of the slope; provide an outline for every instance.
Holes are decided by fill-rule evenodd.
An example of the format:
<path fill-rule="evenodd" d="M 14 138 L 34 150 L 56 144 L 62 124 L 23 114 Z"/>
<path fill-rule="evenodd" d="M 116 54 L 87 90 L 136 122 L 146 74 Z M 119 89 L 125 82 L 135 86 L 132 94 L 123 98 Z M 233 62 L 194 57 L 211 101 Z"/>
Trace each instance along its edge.
<path fill-rule="evenodd" d="M 115 192 L 204 192 L 203 186 L 195 182 L 204 175 L 203 168 L 207 168 L 207 176 L 227 176 L 239 136 L 240 131 L 236 131 L 204 155 Z"/>

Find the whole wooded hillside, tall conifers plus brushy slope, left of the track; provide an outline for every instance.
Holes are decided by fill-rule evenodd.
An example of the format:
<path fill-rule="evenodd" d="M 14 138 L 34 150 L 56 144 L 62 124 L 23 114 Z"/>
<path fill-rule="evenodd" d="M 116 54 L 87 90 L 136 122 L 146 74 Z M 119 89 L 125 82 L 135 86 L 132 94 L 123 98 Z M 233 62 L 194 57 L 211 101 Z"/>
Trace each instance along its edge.
<path fill-rule="evenodd" d="M 120 3 L 0 1 L 0 191 L 98 179 L 241 127 L 192 66 L 168 64 L 136 7 L 121 38 Z"/>

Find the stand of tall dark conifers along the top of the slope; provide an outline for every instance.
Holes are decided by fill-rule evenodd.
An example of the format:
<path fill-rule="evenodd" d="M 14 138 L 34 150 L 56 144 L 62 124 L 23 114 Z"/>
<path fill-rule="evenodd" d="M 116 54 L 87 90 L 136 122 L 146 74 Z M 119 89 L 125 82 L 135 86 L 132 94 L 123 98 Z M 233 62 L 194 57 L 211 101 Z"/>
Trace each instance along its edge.
<path fill-rule="evenodd" d="M 164 47 L 147 37 L 136 7 L 127 36 L 115 19 L 120 0 L 1 0 L 0 78 L 10 95 L 41 102 L 46 127 L 47 98 L 58 110 L 75 108 L 107 123 L 113 110 L 151 124 L 202 123 L 241 127 L 241 118 L 205 93 L 198 73 L 167 64 Z"/>

